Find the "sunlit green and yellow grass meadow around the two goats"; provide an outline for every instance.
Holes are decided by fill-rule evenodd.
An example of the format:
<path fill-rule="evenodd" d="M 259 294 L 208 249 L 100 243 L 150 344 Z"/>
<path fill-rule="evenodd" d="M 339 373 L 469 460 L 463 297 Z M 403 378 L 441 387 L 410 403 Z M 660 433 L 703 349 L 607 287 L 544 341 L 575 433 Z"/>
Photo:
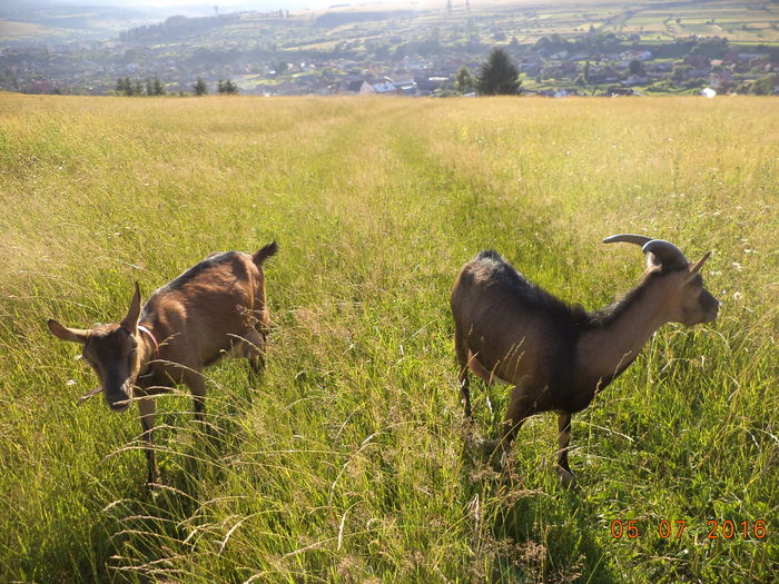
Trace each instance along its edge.
<path fill-rule="evenodd" d="M 770 582 L 778 129 L 747 97 L 0 96 L 0 580 Z M 622 231 L 713 249 L 719 320 L 662 328 L 574 416 L 580 491 L 552 473 L 554 416 L 495 474 L 463 447 L 458 268 L 493 247 L 594 308 L 641 273 L 600 244 Z M 267 373 L 208 370 L 211 439 L 160 397 L 147 493 L 135 408 L 76 407 L 95 377 L 46 318 L 118 320 L 135 280 L 272 239 Z M 506 389 L 474 396 L 495 435 Z"/>

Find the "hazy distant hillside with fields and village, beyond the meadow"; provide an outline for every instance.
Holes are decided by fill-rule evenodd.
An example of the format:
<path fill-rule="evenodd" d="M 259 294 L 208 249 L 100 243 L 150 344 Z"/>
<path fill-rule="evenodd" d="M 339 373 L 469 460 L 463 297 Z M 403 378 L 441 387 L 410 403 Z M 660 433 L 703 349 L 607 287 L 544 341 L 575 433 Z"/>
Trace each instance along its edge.
<path fill-rule="evenodd" d="M 494 47 L 511 51 L 530 91 L 592 95 L 624 86 L 689 95 L 712 86 L 745 93 L 779 70 L 776 3 L 600 0 L 584 9 L 569 0 L 502 0 L 450 6 L 179 14 L 139 27 L 128 23 L 101 41 L 91 36 L 34 46 L 36 27 L 67 20 L 39 16 L 24 26 L 0 26 L 0 41 L 7 44 L 0 50 L 0 89 L 108 95 L 120 78 L 156 77 L 169 92 L 190 92 L 200 77 L 211 86 L 233 79 L 244 93 L 329 95 L 389 79 L 404 95 L 426 96 L 451 90 L 463 66 L 477 72 Z M 554 49 L 539 50 L 541 42 Z M 718 50 L 691 52 L 707 42 Z M 631 71 L 631 61 L 643 66 Z M 766 80 L 769 92 L 773 81 Z"/>

